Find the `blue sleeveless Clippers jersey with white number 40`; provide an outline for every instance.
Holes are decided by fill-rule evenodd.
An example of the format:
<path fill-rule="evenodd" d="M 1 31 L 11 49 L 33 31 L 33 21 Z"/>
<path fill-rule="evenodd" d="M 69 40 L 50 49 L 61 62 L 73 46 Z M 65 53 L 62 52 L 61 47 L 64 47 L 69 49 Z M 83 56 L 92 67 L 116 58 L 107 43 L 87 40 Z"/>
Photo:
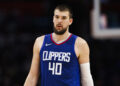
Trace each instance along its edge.
<path fill-rule="evenodd" d="M 74 50 L 76 38 L 71 34 L 58 44 L 52 34 L 45 35 L 40 50 L 41 86 L 80 86 L 80 67 Z"/>

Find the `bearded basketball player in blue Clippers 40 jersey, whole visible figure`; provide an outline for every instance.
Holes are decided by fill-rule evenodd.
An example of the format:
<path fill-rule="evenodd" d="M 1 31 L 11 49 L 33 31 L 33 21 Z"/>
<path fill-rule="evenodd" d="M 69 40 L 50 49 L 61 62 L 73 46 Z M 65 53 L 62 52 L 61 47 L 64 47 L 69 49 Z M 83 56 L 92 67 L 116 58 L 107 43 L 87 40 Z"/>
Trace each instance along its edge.
<path fill-rule="evenodd" d="M 24 86 L 94 86 L 87 42 L 69 32 L 72 12 L 66 5 L 54 10 L 54 32 L 38 37 Z"/>

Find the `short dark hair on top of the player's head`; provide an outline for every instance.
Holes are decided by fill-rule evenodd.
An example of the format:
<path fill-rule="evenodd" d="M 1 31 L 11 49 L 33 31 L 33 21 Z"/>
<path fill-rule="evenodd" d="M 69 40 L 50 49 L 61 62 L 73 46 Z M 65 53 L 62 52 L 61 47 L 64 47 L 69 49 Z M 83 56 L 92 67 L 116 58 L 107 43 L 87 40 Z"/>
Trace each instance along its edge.
<path fill-rule="evenodd" d="M 72 12 L 72 9 L 68 6 L 68 5 L 65 5 L 65 4 L 60 4 L 60 5 L 57 5 L 55 10 L 58 9 L 60 11 L 68 11 L 69 12 L 69 17 L 72 18 L 73 17 L 73 12 Z"/>

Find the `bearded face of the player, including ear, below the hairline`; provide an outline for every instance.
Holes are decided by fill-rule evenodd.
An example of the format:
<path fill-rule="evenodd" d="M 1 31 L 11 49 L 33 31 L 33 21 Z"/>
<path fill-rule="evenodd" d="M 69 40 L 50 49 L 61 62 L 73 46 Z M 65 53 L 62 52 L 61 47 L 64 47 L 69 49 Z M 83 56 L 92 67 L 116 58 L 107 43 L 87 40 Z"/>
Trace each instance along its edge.
<path fill-rule="evenodd" d="M 59 11 L 56 9 L 53 16 L 54 32 L 58 35 L 64 34 L 69 28 L 69 25 L 72 24 L 72 21 L 68 11 Z"/>

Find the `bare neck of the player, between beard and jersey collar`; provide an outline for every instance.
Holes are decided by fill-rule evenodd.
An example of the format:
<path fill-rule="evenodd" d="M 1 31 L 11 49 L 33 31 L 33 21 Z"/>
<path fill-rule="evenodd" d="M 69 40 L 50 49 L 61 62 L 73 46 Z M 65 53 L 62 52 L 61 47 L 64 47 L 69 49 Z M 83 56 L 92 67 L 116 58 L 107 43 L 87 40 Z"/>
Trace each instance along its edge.
<path fill-rule="evenodd" d="M 70 35 L 70 32 L 66 31 L 63 35 L 58 35 L 56 33 L 53 33 L 53 40 L 57 43 L 60 43 L 64 40 L 66 40 Z"/>

